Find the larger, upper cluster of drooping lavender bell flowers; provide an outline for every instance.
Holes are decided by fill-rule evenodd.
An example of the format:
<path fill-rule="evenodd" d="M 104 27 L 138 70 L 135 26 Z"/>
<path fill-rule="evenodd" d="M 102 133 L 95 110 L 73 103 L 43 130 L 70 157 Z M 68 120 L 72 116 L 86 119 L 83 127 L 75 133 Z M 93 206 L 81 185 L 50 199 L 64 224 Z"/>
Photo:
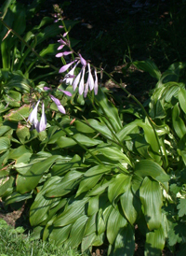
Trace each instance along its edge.
<path fill-rule="evenodd" d="M 64 46 L 69 46 L 69 42 L 68 40 L 64 39 L 60 39 L 58 42 L 60 42 L 60 47 L 58 48 L 58 50 L 62 50 Z M 63 51 L 60 52 L 56 55 L 56 57 L 62 57 L 62 56 L 66 56 L 69 54 L 72 54 L 73 51 Z M 79 72 L 79 74 L 75 77 L 74 76 L 74 71 L 75 68 L 78 64 L 81 64 L 81 70 Z M 71 66 L 73 66 L 73 68 L 66 74 L 66 76 L 64 77 L 64 79 L 62 81 L 65 81 L 66 84 L 70 84 L 73 85 L 73 91 L 75 91 L 75 89 L 77 88 L 77 86 L 79 85 L 79 94 L 83 94 L 84 92 L 84 96 L 86 97 L 86 94 L 88 92 L 88 89 L 90 91 L 92 91 L 94 89 L 95 94 L 98 93 L 98 76 L 97 76 L 97 70 L 96 68 L 94 68 L 94 77 L 92 76 L 91 73 L 91 67 L 90 64 L 86 62 L 86 60 L 82 57 L 81 54 L 79 54 L 79 57 L 77 57 L 73 62 L 69 63 L 69 64 L 65 64 L 60 68 L 59 73 L 63 73 L 65 71 L 67 71 Z M 85 74 L 86 74 L 86 67 L 87 67 L 87 80 L 85 83 Z"/>

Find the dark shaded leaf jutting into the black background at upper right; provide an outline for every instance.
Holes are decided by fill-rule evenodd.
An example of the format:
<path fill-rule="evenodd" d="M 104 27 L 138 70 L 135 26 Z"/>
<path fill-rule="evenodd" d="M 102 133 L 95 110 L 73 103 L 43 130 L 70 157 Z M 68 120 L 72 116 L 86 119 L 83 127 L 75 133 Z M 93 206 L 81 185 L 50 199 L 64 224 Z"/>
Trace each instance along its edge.
<path fill-rule="evenodd" d="M 159 80 L 161 78 L 161 72 L 157 68 L 156 64 L 153 63 L 151 60 L 146 61 L 137 61 L 133 62 L 132 64 L 136 65 L 139 69 L 149 72 L 149 74 L 153 77 Z"/>

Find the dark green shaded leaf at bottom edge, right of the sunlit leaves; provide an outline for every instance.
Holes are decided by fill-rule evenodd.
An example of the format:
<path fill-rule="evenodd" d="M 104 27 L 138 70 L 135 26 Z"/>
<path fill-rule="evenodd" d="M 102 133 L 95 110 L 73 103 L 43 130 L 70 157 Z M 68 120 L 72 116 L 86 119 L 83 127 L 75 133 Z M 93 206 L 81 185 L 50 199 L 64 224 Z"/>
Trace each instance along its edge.
<path fill-rule="evenodd" d="M 133 256 L 135 249 L 134 229 L 130 224 L 119 230 L 114 243 L 114 256 Z"/>

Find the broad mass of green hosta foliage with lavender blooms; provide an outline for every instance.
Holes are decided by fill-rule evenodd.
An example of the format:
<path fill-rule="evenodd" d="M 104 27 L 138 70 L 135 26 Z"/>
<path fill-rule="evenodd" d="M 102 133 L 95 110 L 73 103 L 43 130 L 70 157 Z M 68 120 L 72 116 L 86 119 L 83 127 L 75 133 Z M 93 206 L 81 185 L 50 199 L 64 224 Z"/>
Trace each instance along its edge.
<path fill-rule="evenodd" d="M 65 36 L 60 43 L 68 47 Z M 161 74 L 152 61 L 133 63 L 157 84 L 149 107 L 121 86 L 135 103 L 121 108 L 106 90 L 97 90 L 102 70 L 92 70 L 81 54 L 66 64 L 71 53 L 64 52 L 60 72 L 67 74 L 58 89 L 73 96 L 43 86 L 33 93 L 47 106 L 46 130 L 18 124 L 15 112 L 2 118 L 0 196 L 7 205 L 30 202 L 33 237 L 59 246 L 91 251 L 104 245 L 108 255 L 129 256 L 140 235 L 145 255 L 174 251 L 178 244 L 177 255 L 183 255 L 185 64 Z M 66 105 L 65 114 L 60 105 Z M 34 109 L 30 120 L 37 123 Z"/>

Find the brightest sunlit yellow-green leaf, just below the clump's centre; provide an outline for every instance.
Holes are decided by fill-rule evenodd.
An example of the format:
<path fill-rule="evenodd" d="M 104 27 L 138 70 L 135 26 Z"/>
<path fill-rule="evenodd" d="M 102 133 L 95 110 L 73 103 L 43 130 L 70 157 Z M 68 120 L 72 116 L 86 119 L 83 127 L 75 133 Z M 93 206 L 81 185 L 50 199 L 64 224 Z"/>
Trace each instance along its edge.
<path fill-rule="evenodd" d="M 113 181 L 108 188 L 108 198 L 110 202 L 113 204 L 114 200 L 120 194 L 128 190 L 128 187 L 130 187 L 131 177 L 124 174 L 118 174 L 112 180 Z"/>

